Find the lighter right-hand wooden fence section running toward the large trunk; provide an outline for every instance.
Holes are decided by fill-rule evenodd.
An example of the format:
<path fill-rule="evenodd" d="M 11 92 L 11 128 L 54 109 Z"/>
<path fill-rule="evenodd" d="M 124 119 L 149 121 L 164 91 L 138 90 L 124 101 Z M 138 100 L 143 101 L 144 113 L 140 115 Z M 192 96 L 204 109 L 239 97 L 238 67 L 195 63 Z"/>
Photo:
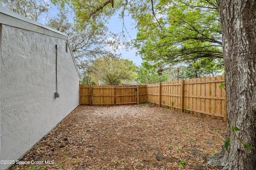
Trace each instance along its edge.
<path fill-rule="evenodd" d="M 224 76 L 148 84 L 148 102 L 226 121 L 226 92 L 219 88 L 222 83 Z"/>

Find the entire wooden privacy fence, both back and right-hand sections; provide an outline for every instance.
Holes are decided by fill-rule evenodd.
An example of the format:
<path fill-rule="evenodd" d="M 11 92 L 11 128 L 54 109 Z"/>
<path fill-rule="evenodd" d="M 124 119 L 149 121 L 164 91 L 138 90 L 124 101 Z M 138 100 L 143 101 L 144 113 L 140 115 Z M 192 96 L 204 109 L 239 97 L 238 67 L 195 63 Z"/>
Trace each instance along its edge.
<path fill-rule="evenodd" d="M 150 102 L 226 121 L 224 76 L 135 86 L 80 85 L 80 104 L 123 105 Z"/>

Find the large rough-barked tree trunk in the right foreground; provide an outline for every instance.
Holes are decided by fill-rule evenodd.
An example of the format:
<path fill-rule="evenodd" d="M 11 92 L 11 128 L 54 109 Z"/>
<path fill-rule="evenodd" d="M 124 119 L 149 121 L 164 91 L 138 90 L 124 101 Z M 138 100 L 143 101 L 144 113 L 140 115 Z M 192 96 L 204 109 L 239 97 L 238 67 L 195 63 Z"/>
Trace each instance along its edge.
<path fill-rule="evenodd" d="M 223 170 L 255 170 L 256 149 L 246 149 L 241 142 L 256 147 L 256 0 L 217 3 L 225 63 L 226 139 L 233 140 L 228 151 L 223 147 L 208 164 Z M 239 139 L 234 139 L 231 123 L 240 129 L 235 132 Z"/>

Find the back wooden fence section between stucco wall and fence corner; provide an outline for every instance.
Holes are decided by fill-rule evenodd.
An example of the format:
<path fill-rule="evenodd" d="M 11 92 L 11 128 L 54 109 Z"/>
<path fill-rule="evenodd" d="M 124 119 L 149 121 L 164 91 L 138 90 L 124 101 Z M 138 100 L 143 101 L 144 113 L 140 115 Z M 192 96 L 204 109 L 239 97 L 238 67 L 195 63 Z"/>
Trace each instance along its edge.
<path fill-rule="evenodd" d="M 79 104 L 122 105 L 147 101 L 146 85 L 92 86 L 80 84 L 79 93 Z"/>

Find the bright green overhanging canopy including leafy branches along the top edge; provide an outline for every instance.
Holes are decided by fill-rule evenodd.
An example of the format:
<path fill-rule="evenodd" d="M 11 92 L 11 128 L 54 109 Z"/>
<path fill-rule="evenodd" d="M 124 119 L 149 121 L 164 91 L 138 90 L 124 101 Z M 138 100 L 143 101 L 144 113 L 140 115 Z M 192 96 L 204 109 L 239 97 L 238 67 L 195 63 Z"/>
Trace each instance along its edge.
<path fill-rule="evenodd" d="M 158 68 L 196 58 L 222 58 L 221 29 L 216 0 L 52 0 L 68 3 L 78 23 L 104 24 L 124 11 L 138 30 L 134 46 Z"/>

